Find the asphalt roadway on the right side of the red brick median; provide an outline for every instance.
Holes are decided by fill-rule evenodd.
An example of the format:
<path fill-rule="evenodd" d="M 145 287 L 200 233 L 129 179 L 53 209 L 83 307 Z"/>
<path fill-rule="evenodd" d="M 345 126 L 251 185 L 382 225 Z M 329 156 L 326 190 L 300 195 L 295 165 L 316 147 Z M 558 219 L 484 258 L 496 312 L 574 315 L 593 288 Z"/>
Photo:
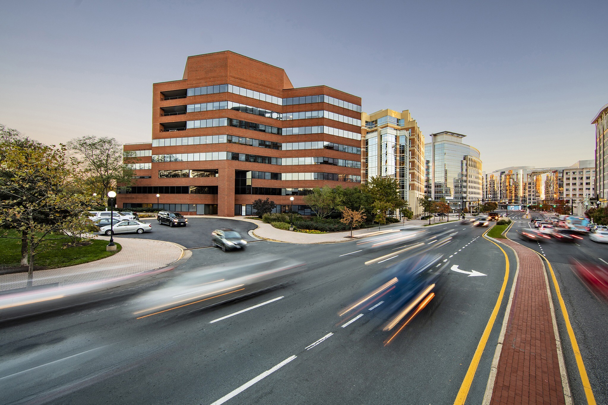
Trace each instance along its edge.
<path fill-rule="evenodd" d="M 608 262 L 608 245 L 593 242 L 588 236 L 585 236 L 578 243 L 562 243 L 553 239 L 544 243 L 521 240 L 514 231 L 533 228 L 533 224 L 530 223 L 530 219 L 521 219 L 521 213 L 514 214 L 514 217 L 516 217 L 514 219 L 516 223 L 514 223 L 508 236 L 516 242 L 543 254 L 551 263 L 579 350 L 581 350 L 581 357 L 589 376 L 596 403 L 608 404 L 608 362 L 606 361 L 606 353 L 608 353 L 608 304 L 596 297 L 570 266 L 570 259 L 605 264 Z M 568 338 L 564 316 L 561 313 L 550 274 L 549 280 L 553 306 L 558 321 L 559 336 L 564 347 L 570 389 L 576 404 L 586 404 L 572 344 Z"/>

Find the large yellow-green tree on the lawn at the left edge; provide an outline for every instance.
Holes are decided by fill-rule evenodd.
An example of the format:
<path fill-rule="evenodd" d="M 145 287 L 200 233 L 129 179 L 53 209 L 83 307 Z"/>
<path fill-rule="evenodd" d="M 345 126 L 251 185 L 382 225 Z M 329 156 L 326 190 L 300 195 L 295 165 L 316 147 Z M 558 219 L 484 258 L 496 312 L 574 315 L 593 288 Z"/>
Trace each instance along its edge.
<path fill-rule="evenodd" d="M 0 161 L 0 226 L 10 226 L 26 235 L 32 286 L 35 256 L 44 251 L 48 240 L 69 239 L 90 225 L 84 220 L 91 202 L 74 193 L 78 182 L 78 162 L 66 155 L 63 145 L 55 148 L 25 138 L 2 143 Z M 75 220 L 82 218 L 83 220 Z M 4 231 L 2 237 L 12 237 Z"/>

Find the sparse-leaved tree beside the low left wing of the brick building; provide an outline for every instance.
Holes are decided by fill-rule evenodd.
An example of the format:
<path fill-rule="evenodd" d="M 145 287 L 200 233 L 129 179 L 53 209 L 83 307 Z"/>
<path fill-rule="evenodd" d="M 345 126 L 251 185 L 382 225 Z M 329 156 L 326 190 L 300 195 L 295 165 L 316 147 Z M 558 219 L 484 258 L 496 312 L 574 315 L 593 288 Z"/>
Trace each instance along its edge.
<path fill-rule="evenodd" d="M 133 182 L 133 169 L 125 164 L 139 159 L 132 151 L 123 152 L 122 144 L 115 138 L 88 135 L 69 141 L 67 147 L 78 158 L 86 189 L 90 194 L 96 192 L 102 205 L 107 204 L 108 191 Z"/>

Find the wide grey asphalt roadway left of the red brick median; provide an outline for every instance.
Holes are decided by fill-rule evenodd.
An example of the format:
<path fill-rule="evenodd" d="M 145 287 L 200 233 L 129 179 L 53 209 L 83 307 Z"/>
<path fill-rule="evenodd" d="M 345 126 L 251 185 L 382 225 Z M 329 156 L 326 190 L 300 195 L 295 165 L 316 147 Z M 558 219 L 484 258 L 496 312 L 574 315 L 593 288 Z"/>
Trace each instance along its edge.
<path fill-rule="evenodd" d="M 111 291 L 106 301 L 0 325 L 0 403 L 213 404 L 233 390 L 226 403 L 453 403 L 505 282 L 505 257 L 481 237 L 486 228 L 434 228 L 458 231 L 453 242 L 434 250 L 450 267 L 486 275 L 443 274 L 437 298 L 389 345 L 383 344 L 388 332 L 379 328 L 385 319 L 378 310 L 364 310 L 350 324 L 340 323 L 337 312 L 361 296 L 373 274 L 403 255 L 365 261 L 395 248 L 368 252 L 354 242 L 263 241 L 244 252 L 199 249 L 178 269 Z M 139 320 L 133 315 L 132 296 L 176 273 L 267 254 L 306 262 L 306 271 L 285 287 L 216 307 L 192 305 Z M 470 404 L 481 403 L 485 392 L 515 270 L 516 260 L 510 261 L 508 288 L 468 393 Z"/>

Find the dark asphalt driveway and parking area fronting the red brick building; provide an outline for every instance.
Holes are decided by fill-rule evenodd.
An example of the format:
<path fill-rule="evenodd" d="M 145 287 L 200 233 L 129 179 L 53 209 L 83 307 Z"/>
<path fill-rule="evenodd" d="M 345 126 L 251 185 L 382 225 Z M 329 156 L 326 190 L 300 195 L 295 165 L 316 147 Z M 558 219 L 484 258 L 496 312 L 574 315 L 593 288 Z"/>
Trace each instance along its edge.
<path fill-rule="evenodd" d="M 143 234 L 125 233 L 116 234 L 114 237 L 136 237 L 140 239 L 165 240 L 166 242 L 179 243 L 186 248 L 198 248 L 211 245 L 211 233 L 218 228 L 232 228 L 243 236 L 244 240 L 256 240 L 249 236 L 248 232 L 256 228 L 255 223 L 235 219 L 216 217 L 190 217 L 188 226 L 159 225 L 156 218 L 144 218 L 142 222 L 151 223 L 152 230 Z"/>

